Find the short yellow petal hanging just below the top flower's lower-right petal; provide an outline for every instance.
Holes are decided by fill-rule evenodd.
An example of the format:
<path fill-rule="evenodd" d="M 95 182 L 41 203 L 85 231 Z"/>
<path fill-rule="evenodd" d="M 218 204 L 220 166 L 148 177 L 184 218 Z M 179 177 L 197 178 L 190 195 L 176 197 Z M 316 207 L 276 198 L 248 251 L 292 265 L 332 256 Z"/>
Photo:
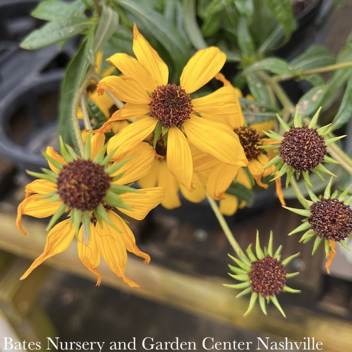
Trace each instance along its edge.
<path fill-rule="evenodd" d="M 221 199 L 223 193 L 234 181 L 240 166 L 219 163 L 210 173 L 207 183 L 207 192 L 214 199 Z"/>

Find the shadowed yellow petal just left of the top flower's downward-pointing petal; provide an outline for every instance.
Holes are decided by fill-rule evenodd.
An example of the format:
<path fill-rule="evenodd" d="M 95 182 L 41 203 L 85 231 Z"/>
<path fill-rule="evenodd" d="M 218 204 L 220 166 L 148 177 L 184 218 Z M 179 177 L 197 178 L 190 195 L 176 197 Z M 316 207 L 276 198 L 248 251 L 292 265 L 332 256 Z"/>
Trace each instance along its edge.
<path fill-rule="evenodd" d="M 158 186 L 165 188 L 165 199 L 161 205 L 165 209 L 175 209 L 181 207 L 179 197 L 179 183 L 170 173 L 165 160 L 157 160 L 159 162 L 159 179 Z"/>

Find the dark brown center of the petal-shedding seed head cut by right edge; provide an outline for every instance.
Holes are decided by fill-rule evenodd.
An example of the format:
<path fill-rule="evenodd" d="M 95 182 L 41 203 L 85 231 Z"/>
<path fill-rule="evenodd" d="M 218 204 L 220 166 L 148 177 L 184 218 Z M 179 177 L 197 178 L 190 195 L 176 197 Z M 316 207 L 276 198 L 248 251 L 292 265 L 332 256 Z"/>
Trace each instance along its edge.
<path fill-rule="evenodd" d="M 310 206 L 307 218 L 320 238 L 340 241 L 352 231 L 352 210 L 337 198 L 321 198 Z"/>

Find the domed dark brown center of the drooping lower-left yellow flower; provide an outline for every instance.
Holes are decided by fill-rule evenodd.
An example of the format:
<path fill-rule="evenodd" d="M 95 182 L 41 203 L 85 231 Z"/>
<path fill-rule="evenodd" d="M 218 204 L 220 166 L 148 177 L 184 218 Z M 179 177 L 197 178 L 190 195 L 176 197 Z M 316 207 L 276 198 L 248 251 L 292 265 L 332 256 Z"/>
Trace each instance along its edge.
<path fill-rule="evenodd" d="M 62 168 L 57 184 L 62 202 L 71 209 L 94 210 L 103 202 L 110 177 L 102 165 L 76 160 Z"/>

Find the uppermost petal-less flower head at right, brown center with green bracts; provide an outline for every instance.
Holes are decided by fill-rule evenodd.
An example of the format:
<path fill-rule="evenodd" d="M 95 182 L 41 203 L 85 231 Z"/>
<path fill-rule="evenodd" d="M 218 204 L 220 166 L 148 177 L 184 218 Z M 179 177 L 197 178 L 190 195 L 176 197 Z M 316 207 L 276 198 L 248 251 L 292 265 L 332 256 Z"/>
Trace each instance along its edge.
<path fill-rule="evenodd" d="M 286 173 L 286 187 L 294 173 L 297 179 L 299 174 L 302 174 L 306 184 L 310 187 L 313 186 L 309 180 L 309 172 L 315 173 L 322 180 L 320 172 L 335 176 L 323 163 L 338 163 L 328 156 L 328 146 L 345 136 L 326 138 L 330 133 L 330 125 L 319 129 L 315 128 L 320 110 L 321 108 L 315 113 L 309 124 L 303 123 L 302 118 L 298 115 L 298 110 L 296 110 L 291 128 L 278 115 L 284 134 L 280 135 L 273 131 L 265 133 L 271 138 L 271 145 L 269 142 L 265 147 L 271 149 L 273 158 L 264 168 L 274 165 L 275 168 L 271 174 L 274 175 L 279 171 L 275 175 L 275 179 Z"/>

